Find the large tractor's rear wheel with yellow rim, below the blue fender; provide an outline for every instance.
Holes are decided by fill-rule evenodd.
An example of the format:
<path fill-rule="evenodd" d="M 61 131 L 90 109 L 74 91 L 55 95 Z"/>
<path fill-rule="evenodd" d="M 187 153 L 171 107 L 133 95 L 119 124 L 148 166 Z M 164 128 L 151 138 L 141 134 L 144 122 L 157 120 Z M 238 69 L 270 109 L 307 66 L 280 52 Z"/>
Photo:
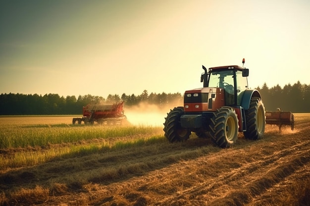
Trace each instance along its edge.
<path fill-rule="evenodd" d="M 247 139 L 261 139 L 266 124 L 265 107 L 258 97 L 253 97 L 250 102 L 250 108 L 246 110 L 247 131 L 243 132 Z"/>

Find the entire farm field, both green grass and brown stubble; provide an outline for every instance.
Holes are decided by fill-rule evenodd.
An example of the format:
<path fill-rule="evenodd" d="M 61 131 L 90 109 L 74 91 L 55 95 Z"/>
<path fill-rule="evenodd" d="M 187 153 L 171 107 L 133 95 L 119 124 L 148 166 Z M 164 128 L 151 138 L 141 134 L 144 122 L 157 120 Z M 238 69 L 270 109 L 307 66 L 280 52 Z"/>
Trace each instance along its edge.
<path fill-rule="evenodd" d="M 310 205 L 310 114 L 295 114 L 294 131 L 240 134 L 229 149 L 195 134 L 168 143 L 163 117 L 122 127 L 71 120 L 0 118 L 0 205 Z"/>

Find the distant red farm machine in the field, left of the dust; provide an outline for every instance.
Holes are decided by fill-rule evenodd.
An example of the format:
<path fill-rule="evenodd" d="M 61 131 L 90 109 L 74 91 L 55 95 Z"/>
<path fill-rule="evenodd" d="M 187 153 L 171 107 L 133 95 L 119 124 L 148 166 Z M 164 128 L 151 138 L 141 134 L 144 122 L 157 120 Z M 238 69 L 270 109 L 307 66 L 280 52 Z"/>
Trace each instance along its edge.
<path fill-rule="evenodd" d="M 83 107 L 83 117 L 73 118 L 72 124 L 76 122 L 78 122 L 78 124 L 82 122 L 84 122 L 84 124 L 94 124 L 94 122 L 107 125 L 122 124 L 124 121 L 127 121 L 123 106 L 123 101 L 110 105 L 88 104 Z"/>

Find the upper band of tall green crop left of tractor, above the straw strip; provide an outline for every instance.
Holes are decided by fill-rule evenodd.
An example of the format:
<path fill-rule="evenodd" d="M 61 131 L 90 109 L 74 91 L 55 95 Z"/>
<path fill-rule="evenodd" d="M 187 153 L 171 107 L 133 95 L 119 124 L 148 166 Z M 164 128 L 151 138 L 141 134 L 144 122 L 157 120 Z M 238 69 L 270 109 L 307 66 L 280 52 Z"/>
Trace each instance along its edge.
<path fill-rule="evenodd" d="M 73 143 L 97 138 L 149 135 L 161 128 L 153 126 L 68 126 L 26 125 L 0 126 L 0 149 L 20 147 L 45 147 L 50 144 Z"/>

